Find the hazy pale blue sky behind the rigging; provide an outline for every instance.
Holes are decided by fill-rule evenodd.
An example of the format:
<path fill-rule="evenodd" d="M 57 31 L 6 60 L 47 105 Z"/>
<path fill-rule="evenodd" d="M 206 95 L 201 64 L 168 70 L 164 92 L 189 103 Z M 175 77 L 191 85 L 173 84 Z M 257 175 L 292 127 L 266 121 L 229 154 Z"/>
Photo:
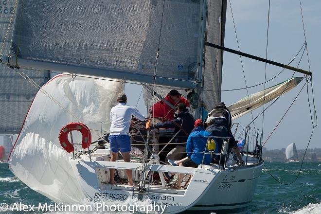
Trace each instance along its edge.
<path fill-rule="evenodd" d="M 310 69 L 313 73 L 314 99 L 317 114 L 321 112 L 320 91 L 321 72 L 319 69 L 321 50 L 321 1 L 319 0 L 302 0 L 303 23 L 305 28 L 305 36 L 307 42 L 307 50 L 309 55 Z M 300 10 L 299 0 L 271 0 L 267 45 L 267 17 L 268 17 L 268 0 L 231 0 L 232 12 L 235 21 L 236 34 L 239 41 L 240 51 L 253 54 L 262 58 L 288 64 L 294 56 L 299 52 L 304 44 L 303 24 Z M 234 26 L 231 15 L 230 3 L 227 5 L 226 31 L 225 31 L 225 47 L 237 50 L 237 42 L 234 32 Z M 290 64 L 297 67 L 302 52 Z M 247 86 L 253 86 L 265 82 L 265 63 L 242 57 L 244 75 Z M 307 54 L 303 54 L 299 68 L 309 70 Z M 266 79 L 274 77 L 282 71 L 281 68 L 267 65 Z M 290 79 L 293 71 L 285 70 L 275 79 L 267 82 L 266 88 Z M 303 76 L 296 73 L 294 76 Z M 271 107 L 264 113 L 263 123 L 263 142 L 279 123 L 285 111 L 293 102 L 304 85 L 303 80 L 295 89 L 280 97 Z M 222 89 L 235 89 L 245 87 L 245 81 L 240 62 L 240 57 L 235 54 L 224 53 Z M 263 90 L 264 85 L 250 88 L 249 94 Z M 128 94 L 128 104 L 137 105 L 142 88 L 138 85 L 127 84 L 125 92 Z M 311 88 L 309 83 L 310 103 Z M 243 97 L 247 96 L 246 89 L 232 92 L 222 92 L 222 101 L 231 105 Z M 147 114 L 146 107 L 141 98 L 137 108 Z M 263 110 L 263 107 L 254 110 L 255 118 Z M 243 129 L 252 120 L 251 114 L 247 114 L 235 121 L 240 123 Z M 321 116 L 320 116 L 321 120 Z M 256 129 L 262 131 L 262 116 L 254 121 Z M 253 125 L 252 125 L 253 128 Z M 290 143 L 296 143 L 298 149 L 305 149 L 309 141 L 312 131 L 311 117 L 307 100 L 306 86 L 286 113 L 280 125 L 268 139 L 265 146 L 267 149 L 285 148 Z M 309 144 L 309 148 L 321 148 L 321 125 L 314 129 L 313 137 Z"/>

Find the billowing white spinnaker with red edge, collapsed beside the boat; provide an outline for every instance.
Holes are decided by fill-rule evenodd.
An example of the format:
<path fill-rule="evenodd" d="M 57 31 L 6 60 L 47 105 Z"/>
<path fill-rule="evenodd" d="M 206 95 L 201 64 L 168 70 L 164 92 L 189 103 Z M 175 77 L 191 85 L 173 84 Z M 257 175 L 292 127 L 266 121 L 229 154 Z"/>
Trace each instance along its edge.
<path fill-rule="evenodd" d="M 42 87 L 80 120 L 39 91 L 9 159 L 10 170 L 22 182 L 55 202 L 76 203 L 85 198 L 69 163 L 72 154 L 59 143 L 60 129 L 70 122 L 83 122 L 95 141 L 102 122 L 103 133 L 109 130 L 110 109 L 124 91 L 123 83 L 88 77 L 62 74 Z M 73 140 L 80 143 L 80 133 L 74 131 Z"/>

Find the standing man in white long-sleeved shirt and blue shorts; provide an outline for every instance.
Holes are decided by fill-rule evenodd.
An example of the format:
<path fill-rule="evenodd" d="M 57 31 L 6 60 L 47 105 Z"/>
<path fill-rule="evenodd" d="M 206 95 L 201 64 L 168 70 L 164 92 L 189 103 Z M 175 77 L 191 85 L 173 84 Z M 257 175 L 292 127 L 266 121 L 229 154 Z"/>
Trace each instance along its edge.
<path fill-rule="evenodd" d="M 110 134 L 108 137 L 110 143 L 111 158 L 110 161 L 116 161 L 119 150 L 122 152 L 125 162 L 130 162 L 129 153 L 131 150 L 129 126 L 132 116 L 140 121 L 145 120 L 145 116 L 137 109 L 127 106 L 127 96 L 125 93 L 119 93 L 117 97 L 118 105 L 110 110 Z M 114 180 L 115 169 L 110 169 L 110 182 Z M 133 186 L 133 177 L 131 170 L 126 170 L 128 185 Z"/>

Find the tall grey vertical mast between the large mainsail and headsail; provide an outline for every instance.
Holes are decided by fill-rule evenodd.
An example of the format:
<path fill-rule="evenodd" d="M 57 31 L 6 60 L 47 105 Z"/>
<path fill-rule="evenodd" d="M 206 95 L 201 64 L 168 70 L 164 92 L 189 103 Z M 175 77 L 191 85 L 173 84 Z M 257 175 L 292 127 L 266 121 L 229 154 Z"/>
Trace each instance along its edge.
<path fill-rule="evenodd" d="M 204 66 L 204 46 L 205 46 L 205 29 L 206 29 L 206 0 L 202 0 L 203 2 L 203 16 L 201 17 L 202 20 L 202 29 L 201 29 L 201 39 L 200 39 L 200 52 L 199 52 L 199 63 L 198 63 L 198 76 L 197 76 L 197 94 L 198 94 L 198 107 L 195 111 L 195 119 L 200 118 L 200 97 L 201 97 L 201 89 L 203 88 L 203 66 Z"/>

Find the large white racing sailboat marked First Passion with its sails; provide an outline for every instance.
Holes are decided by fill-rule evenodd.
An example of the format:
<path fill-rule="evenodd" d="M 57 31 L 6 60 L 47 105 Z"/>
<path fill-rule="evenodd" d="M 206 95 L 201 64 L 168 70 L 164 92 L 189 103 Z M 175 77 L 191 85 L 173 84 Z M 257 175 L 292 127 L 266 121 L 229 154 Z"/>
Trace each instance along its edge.
<path fill-rule="evenodd" d="M 17 70 L 65 73 L 43 87 L 26 77 L 39 92 L 10 154 L 10 170 L 55 202 L 137 198 L 166 205 L 164 213 L 248 212 L 264 163 L 262 138 L 254 151 L 248 146 L 243 152 L 245 166 L 233 159 L 197 168 L 162 164 L 154 149 L 149 156 L 148 149 L 156 144 L 150 136 L 144 138 L 144 151 L 132 154 L 132 162 L 109 161 L 108 144 L 103 145 L 110 109 L 125 83 L 142 84 L 149 107 L 165 90 L 194 89 L 190 110 L 195 118 L 221 101 L 223 50 L 228 51 L 223 47 L 226 4 L 226 0 L 111 0 L 90 5 L 77 0 L 18 1 L 15 48 L 1 56 L 2 62 Z M 275 98 L 287 87 L 277 88 L 263 94 L 277 90 L 272 93 Z M 262 92 L 251 98 L 263 103 L 260 97 Z M 237 103 L 234 107 L 241 113 L 259 106 Z M 72 131 L 68 152 L 58 135 L 70 123 L 81 123 L 92 141 L 89 135 L 84 139 Z M 132 170 L 140 187 L 109 184 L 110 168 L 123 179 L 124 171 Z M 171 189 L 165 182 L 163 174 L 169 172 L 187 175 L 182 189 Z M 154 182 L 157 176 L 159 182 Z"/>

